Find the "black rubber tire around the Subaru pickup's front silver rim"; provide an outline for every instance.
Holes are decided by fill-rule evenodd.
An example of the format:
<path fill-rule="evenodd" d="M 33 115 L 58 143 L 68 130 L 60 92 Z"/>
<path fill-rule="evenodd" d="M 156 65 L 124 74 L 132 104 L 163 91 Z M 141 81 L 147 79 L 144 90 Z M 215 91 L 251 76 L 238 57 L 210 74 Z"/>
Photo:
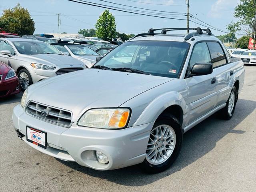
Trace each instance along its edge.
<path fill-rule="evenodd" d="M 172 152 L 171 156 L 162 164 L 158 164 L 158 165 L 151 164 L 145 158 L 144 162 L 142 162 L 141 164 L 141 168 L 149 174 L 159 173 L 169 168 L 177 159 L 178 154 L 180 153 L 181 144 L 183 140 L 183 130 L 181 128 L 180 122 L 177 120 L 177 118 L 175 118 L 171 114 L 165 113 L 158 117 L 158 119 L 156 120 L 153 126 L 153 129 L 156 126 L 159 126 L 162 124 L 169 125 L 172 127 L 172 129 L 176 134 L 176 144 L 174 146 L 174 151 Z"/>

